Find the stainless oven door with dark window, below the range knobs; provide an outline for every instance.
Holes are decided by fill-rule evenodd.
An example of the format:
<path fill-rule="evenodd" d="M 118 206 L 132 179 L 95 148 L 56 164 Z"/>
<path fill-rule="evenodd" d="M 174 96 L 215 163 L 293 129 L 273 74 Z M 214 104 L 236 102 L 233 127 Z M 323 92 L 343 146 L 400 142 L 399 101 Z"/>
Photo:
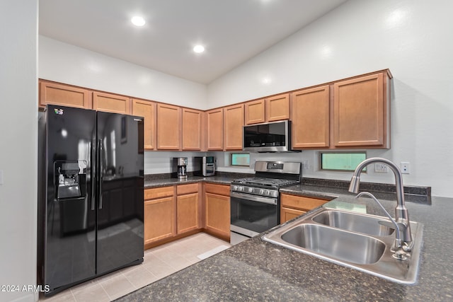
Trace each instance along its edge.
<path fill-rule="evenodd" d="M 231 192 L 231 244 L 236 234 L 251 238 L 280 223 L 278 199 Z"/>

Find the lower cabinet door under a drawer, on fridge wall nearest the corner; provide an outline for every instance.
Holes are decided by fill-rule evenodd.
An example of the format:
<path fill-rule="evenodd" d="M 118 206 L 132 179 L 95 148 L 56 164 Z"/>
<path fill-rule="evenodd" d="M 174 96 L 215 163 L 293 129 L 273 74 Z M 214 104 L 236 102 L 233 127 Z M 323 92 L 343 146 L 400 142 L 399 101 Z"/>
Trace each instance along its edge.
<path fill-rule="evenodd" d="M 198 193 L 180 195 L 176 201 L 178 234 L 196 230 L 198 225 Z"/>

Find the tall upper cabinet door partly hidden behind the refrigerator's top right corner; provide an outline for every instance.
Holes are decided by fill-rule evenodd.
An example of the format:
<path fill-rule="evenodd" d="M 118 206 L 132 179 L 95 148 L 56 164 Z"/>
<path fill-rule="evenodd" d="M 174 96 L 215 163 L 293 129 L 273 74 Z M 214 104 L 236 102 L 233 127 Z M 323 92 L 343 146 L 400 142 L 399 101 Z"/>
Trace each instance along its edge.
<path fill-rule="evenodd" d="M 156 148 L 156 103 L 148 100 L 132 100 L 132 115 L 144 117 L 144 149 Z"/>

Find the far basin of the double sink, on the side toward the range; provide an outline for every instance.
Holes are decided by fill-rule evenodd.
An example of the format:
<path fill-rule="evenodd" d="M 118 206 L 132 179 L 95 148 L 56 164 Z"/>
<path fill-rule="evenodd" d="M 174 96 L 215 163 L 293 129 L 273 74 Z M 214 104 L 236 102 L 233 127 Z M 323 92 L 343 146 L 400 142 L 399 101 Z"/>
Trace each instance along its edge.
<path fill-rule="evenodd" d="M 378 223 L 383 217 L 367 214 L 355 214 L 348 211 L 322 211 L 313 217 L 313 221 L 341 228 L 346 231 L 360 232 L 367 235 L 390 236 L 395 229 Z M 387 219 L 385 219 L 387 220 Z"/>

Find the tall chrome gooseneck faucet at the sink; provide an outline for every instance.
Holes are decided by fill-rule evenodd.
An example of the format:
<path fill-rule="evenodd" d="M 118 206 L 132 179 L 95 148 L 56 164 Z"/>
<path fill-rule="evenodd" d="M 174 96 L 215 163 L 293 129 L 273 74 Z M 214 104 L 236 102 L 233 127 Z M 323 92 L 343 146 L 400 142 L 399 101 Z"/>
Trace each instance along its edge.
<path fill-rule="evenodd" d="M 395 250 L 403 249 L 404 252 L 410 252 L 413 246 L 411 224 L 409 223 L 408 209 L 406 209 L 406 206 L 404 205 L 403 176 L 401 175 L 401 170 L 397 165 L 386 158 L 374 157 L 365 159 L 365 161 L 359 163 L 359 165 L 357 165 L 357 168 L 355 168 L 354 175 L 352 175 L 351 178 L 349 192 L 356 194 L 359 192 L 360 173 L 362 173 L 363 168 L 365 168 L 370 163 L 384 163 L 393 171 L 395 175 L 397 204 L 395 208 L 395 220 L 389 224 L 390 226 L 393 226 L 393 223 L 395 223 L 398 226 L 398 228 L 396 228 L 396 246 L 394 247 Z M 387 225 L 385 221 L 380 221 L 379 223 Z"/>

